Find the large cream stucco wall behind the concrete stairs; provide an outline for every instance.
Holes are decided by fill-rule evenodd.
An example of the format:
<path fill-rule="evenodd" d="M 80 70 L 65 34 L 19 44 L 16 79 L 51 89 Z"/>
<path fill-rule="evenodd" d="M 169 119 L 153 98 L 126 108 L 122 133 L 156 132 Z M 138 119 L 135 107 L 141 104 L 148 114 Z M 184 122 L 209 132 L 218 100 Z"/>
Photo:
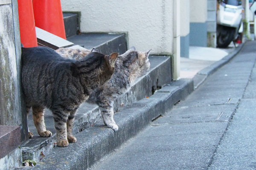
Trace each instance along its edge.
<path fill-rule="evenodd" d="M 128 32 L 128 46 L 172 53 L 172 0 L 61 0 L 63 11 L 81 11 L 82 32 Z"/>

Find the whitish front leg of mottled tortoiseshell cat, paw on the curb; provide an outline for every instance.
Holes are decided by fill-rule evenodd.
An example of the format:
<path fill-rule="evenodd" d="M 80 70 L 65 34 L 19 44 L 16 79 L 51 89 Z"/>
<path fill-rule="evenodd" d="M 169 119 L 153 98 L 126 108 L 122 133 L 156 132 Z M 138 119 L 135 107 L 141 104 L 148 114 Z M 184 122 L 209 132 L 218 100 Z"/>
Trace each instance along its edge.
<path fill-rule="evenodd" d="M 108 127 L 110 127 L 111 129 L 117 131 L 118 130 L 118 126 L 116 125 L 116 122 L 113 119 L 113 108 L 104 108 L 99 106 L 101 114 L 102 114 L 102 119 L 105 123 L 105 125 L 107 125 Z"/>

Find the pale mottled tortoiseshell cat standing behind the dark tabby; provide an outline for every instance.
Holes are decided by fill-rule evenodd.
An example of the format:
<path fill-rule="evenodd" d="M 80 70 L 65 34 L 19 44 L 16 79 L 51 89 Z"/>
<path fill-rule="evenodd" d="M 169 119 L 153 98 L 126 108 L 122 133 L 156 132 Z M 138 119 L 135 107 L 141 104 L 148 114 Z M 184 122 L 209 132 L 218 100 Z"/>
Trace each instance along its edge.
<path fill-rule="evenodd" d="M 57 50 L 61 56 L 70 58 L 70 54 L 76 58 L 85 57 L 88 50 L 60 49 Z M 87 102 L 96 103 L 102 113 L 102 118 L 108 127 L 118 130 L 113 120 L 113 102 L 117 96 L 125 94 L 137 77 L 144 75 L 149 67 L 149 51 L 138 52 L 134 47 L 119 55 L 114 66 L 114 73 L 104 85 L 96 88 Z"/>

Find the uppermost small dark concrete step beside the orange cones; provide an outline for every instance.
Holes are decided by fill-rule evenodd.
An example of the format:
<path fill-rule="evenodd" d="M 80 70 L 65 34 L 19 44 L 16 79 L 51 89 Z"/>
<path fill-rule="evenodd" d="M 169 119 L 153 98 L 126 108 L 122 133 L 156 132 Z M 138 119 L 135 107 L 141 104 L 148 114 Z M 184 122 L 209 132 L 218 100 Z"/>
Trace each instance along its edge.
<path fill-rule="evenodd" d="M 66 38 L 78 34 L 79 17 L 77 13 L 63 13 L 63 20 L 66 32 Z"/>

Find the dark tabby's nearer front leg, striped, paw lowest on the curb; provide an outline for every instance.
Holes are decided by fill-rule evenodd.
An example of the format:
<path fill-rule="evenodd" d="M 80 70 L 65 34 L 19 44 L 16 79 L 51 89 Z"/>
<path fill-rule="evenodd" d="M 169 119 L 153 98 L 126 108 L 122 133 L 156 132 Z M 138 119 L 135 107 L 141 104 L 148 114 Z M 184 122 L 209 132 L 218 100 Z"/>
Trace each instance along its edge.
<path fill-rule="evenodd" d="M 69 113 L 57 109 L 51 109 L 54 119 L 55 129 L 57 131 L 57 145 L 66 147 L 69 142 L 67 140 L 67 119 Z"/>

